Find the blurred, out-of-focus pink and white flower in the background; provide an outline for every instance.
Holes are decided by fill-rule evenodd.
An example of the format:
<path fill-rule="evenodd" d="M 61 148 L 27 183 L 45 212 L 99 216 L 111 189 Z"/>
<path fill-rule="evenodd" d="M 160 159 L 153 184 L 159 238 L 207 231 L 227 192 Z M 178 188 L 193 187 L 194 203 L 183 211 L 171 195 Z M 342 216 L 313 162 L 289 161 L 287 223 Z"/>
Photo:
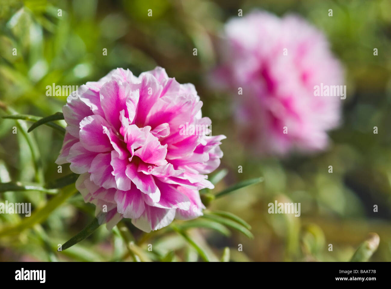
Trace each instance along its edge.
<path fill-rule="evenodd" d="M 261 11 L 230 20 L 225 34 L 214 76 L 236 95 L 242 139 L 260 153 L 325 149 L 326 131 L 339 125 L 341 95 L 319 96 L 314 87 L 344 81 L 325 36 L 298 16 Z"/>

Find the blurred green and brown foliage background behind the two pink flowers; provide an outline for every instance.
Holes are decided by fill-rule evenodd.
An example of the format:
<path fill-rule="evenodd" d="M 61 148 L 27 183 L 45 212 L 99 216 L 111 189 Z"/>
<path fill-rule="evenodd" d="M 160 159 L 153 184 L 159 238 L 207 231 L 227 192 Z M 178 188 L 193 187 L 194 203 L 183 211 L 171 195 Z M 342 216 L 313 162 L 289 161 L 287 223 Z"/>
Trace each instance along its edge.
<path fill-rule="evenodd" d="M 343 124 L 330 132 L 329 150 L 310 156 L 255 159 L 240 142 L 230 95 L 208 84 L 208 72 L 219 59 L 216 48 L 222 27 L 237 17 L 238 9 L 244 16 L 252 9 L 278 15 L 298 13 L 327 35 L 346 69 L 348 91 Z M 332 17 L 328 9 L 333 9 Z M 228 175 L 215 190 L 264 177 L 261 184 L 226 195 L 209 207 L 246 220 L 253 239 L 237 231 L 230 236 L 210 229 L 189 231 L 212 260 L 228 246 L 232 261 L 348 261 L 366 235 L 376 232 L 380 245 L 371 260 L 390 261 L 390 11 L 389 0 L 1 0 L 0 100 L 20 114 L 48 116 L 61 111 L 66 97 L 46 96 L 47 85 L 81 85 L 117 67 L 129 68 L 135 75 L 157 65 L 164 67 L 179 83 L 195 85 L 204 102 L 203 115 L 212 119 L 213 133 L 227 136 L 221 145 L 224 157 L 219 169 L 226 168 Z M 107 56 L 102 55 L 104 48 Z M 378 56 L 373 55 L 374 48 Z M 0 120 L 0 179 L 33 181 L 29 147 L 23 135 L 12 134 L 14 125 L 14 120 Z M 378 134 L 373 134 L 374 126 Z M 30 134 L 38 144 L 43 178 L 57 179 L 54 161 L 63 137 L 45 126 Z M 330 165 L 333 173 L 328 173 Z M 238 166 L 243 167 L 242 173 Z M 69 167 L 63 165 L 63 174 L 67 173 Z M 50 196 L 37 191 L 1 193 L 0 201 L 5 199 L 32 202 L 36 210 Z M 301 216 L 269 215 L 267 204 L 274 200 L 300 202 Z M 378 212 L 373 212 L 374 205 Z M 45 240 L 56 249 L 56 244 L 75 235 L 92 216 L 93 206 L 75 195 L 41 226 L 13 236 L 0 235 L 0 261 L 50 260 Z M 19 221 L 18 215 L 1 214 L 0 228 Z M 137 240 L 144 238 L 134 227 L 131 231 Z M 140 246 L 153 241 L 160 256 L 197 260 L 181 236 L 158 231 L 150 238 Z M 242 252 L 238 244 L 243 245 Z M 328 244 L 333 251 L 328 251 Z M 56 254 L 59 260 L 117 260 L 125 254 L 123 245 L 118 235 L 101 226 L 66 254 Z"/>

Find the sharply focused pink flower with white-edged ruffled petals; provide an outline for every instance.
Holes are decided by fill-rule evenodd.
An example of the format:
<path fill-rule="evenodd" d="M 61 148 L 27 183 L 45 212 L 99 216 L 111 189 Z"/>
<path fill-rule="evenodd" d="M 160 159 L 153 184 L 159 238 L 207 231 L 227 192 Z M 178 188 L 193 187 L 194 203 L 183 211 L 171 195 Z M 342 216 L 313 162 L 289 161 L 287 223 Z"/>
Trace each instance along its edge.
<path fill-rule="evenodd" d="M 68 126 L 56 163 L 80 174 L 76 188 L 100 222 L 112 228 L 130 218 L 149 232 L 203 214 L 199 190 L 213 188 L 206 174 L 219 166 L 225 136 L 181 131 L 211 124 L 194 85 L 161 67 L 139 77 L 119 68 L 77 96 L 63 107 Z"/>

